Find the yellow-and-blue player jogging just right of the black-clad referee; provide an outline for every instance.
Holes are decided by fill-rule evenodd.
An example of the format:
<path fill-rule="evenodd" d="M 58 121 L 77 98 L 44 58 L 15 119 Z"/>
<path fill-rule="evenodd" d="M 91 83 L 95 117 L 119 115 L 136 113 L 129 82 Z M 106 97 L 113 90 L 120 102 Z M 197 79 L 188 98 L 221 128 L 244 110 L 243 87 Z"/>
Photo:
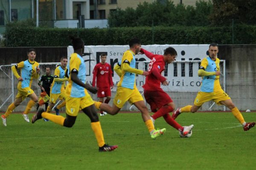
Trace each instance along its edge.
<path fill-rule="evenodd" d="M 63 102 L 54 108 L 54 110 L 56 111 L 56 115 L 59 115 L 59 109 L 66 105 L 65 88 L 64 88 L 64 86 L 66 86 L 65 82 L 68 81 L 68 78 L 65 77 L 66 66 L 67 66 L 67 58 L 62 57 L 61 65 L 55 68 L 55 71 L 54 71 L 54 79 L 53 79 L 51 90 L 50 90 L 50 100 L 49 100 L 50 104 L 47 108 L 47 111 L 46 111 L 47 113 L 51 112 L 57 99 L 63 100 Z M 48 120 L 44 119 L 44 121 L 48 121 Z"/>

